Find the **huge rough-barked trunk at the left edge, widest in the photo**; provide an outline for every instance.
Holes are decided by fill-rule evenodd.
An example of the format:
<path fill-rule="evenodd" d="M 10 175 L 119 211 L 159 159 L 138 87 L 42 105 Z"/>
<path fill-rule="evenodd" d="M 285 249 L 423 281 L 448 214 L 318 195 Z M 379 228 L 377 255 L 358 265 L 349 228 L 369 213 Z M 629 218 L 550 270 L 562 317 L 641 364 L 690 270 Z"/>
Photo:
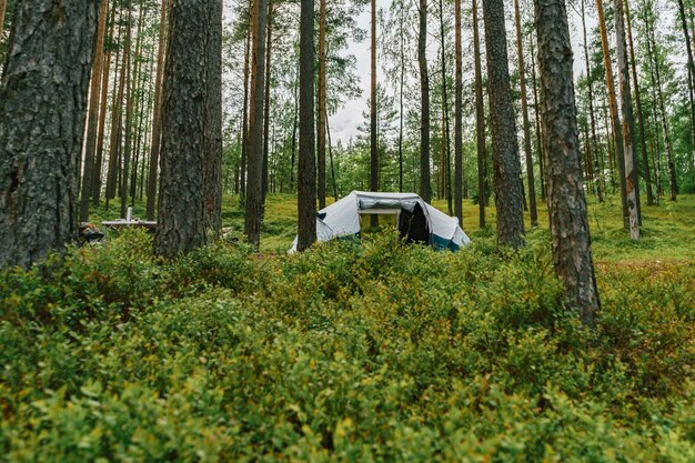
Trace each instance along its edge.
<path fill-rule="evenodd" d="M 77 236 L 99 3 L 16 6 L 0 82 L 0 268 L 28 268 Z"/>

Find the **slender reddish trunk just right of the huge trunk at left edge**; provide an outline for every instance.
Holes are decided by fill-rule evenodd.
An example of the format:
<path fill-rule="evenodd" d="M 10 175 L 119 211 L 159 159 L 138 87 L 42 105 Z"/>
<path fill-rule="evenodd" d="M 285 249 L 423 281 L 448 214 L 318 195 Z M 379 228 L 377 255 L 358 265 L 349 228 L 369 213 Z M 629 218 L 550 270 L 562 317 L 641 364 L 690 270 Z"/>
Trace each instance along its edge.
<path fill-rule="evenodd" d="M 91 90 L 89 97 L 89 123 L 87 128 L 87 147 L 84 151 L 84 173 L 82 175 L 82 190 L 80 193 L 80 222 L 87 222 L 89 220 L 89 199 L 91 188 L 93 185 L 92 174 L 94 173 L 94 151 L 97 148 L 97 129 L 99 124 L 99 95 L 101 94 L 101 72 L 103 70 L 103 42 L 107 34 L 107 16 L 109 14 L 107 3 L 107 0 L 101 0 L 101 6 L 99 7 L 99 30 L 97 32 L 97 49 L 94 52 L 94 64 L 92 67 Z M 4 6 L 0 9 L 3 8 Z M 0 34 L 2 34 L 1 26 Z"/>

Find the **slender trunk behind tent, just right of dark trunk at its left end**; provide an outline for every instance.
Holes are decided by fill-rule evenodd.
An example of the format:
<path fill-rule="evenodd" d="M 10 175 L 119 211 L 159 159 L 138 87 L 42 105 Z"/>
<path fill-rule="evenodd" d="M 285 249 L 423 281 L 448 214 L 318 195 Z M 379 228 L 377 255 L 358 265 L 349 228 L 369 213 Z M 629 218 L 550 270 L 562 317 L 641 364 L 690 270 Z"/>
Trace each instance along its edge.
<path fill-rule="evenodd" d="M 326 2 L 328 0 L 319 0 L 319 101 L 316 114 L 316 164 L 319 177 L 319 209 L 325 208 L 325 132 L 328 123 L 328 114 L 325 108 L 326 99 Z"/>

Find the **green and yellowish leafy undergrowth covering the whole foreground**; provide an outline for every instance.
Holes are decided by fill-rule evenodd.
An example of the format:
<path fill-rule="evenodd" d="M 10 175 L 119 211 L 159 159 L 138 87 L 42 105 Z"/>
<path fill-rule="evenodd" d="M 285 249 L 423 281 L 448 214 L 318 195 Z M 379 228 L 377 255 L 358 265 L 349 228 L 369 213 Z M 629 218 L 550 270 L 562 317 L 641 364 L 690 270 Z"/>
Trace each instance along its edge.
<path fill-rule="evenodd" d="M 602 263 L 590 331 L 546 246 L 474 234 L 2 273 L 0 461 L 695 461 L 693 262 Z"/>

